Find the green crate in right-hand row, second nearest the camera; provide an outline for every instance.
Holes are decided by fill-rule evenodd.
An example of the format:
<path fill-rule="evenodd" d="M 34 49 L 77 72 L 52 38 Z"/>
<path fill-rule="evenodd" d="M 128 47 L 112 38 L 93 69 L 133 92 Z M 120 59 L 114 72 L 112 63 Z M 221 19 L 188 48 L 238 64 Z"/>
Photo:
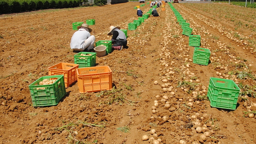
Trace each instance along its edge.
<path fill-rule="evenodd" d="M 210 59 L 211 52 L 206 48 L 198 48 L 195 47 L 193 54 L 193 63 L 208 65 Z"/>

